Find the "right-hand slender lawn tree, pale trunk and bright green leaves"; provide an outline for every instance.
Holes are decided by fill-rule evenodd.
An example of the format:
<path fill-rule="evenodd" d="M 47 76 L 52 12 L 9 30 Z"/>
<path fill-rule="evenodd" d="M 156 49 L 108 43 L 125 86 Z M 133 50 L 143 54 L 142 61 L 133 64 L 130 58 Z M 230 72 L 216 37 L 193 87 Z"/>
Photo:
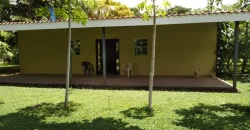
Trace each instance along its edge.
<path fill-rule="evenodd" d="M 155 0 L 152 0 L 152 4 L 147 4 L 148 1 L 144 0 L 143 2 L 138 4 L 138 9 L 140 11 L 144 11 L 143 19 L 149 20 L 150 17 L 153 16 L 153 38 L 152 38 L 152 56 L 151 56 L 151 71 L 149 77 L 149 100 L 148 100 L 148 108 L 152 109 L 152 95 L 153 95 L 153 84 L 154 84 L 154 71 L 155 71 L 155 45 L 156 45 L 156 14 L 158 16 L 165 17 L 166 11 L 165 9 L 160 8 L 155 5 Z M 170 7 L 171 4 L 169 1 L 163 2 L 164 7 Z"/>

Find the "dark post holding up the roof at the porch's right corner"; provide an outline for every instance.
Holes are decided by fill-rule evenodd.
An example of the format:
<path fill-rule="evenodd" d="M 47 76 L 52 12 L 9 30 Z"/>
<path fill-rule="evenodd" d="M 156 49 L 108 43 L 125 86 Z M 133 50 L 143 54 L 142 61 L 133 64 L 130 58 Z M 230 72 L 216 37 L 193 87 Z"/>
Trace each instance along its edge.
<path fill-rule="evenodd" d="M 238 65 L 238 53 L 239 53 L 239 25 L 240 22 L 235 22 L 235 30 L 234 30 L 234 74 L 233 74 L 233 88 L 237 87 L 237 65 Z"/>

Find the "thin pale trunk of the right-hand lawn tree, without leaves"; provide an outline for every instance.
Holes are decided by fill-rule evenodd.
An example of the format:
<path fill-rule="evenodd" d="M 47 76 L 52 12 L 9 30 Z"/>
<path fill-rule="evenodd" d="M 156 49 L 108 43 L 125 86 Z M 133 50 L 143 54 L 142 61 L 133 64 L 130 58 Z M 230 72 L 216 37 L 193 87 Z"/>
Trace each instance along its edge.
<path fill-rule="evenodd" d="M 155 43 L 156 43 L 156 14 L 155 14 L 155 0 L 153 0 L 153 39 L 152 39 L 152 57 L 151 57 L 151 71 L 149 77 L 149 103 L 148 108 L 152 109 L 152 95 L 154 85 L 155 73 Z"/>

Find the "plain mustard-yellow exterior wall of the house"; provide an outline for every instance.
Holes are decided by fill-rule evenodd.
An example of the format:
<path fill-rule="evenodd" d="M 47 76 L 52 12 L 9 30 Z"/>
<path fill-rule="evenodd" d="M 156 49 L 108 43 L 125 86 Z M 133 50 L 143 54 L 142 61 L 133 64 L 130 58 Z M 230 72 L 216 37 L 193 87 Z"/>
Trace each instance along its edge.
<path fill-rule="evenodd" d="M 81 62 L 96 66 L 95 40 L 101 28 L 73 29 L 72 40 L 81 41 L 81 54 L 73 56 L 73 74 L 82 74 Z M 134 55 L 134 39 L 148 39 L 148 55 Z M 119 39 L 120 65 L 134 63 L 135 75 L 150 71 L 152 27 L 106 28 L 106 39 Z M 65 74 L 67 30 L 19 32 L 22 74 Z M 157 26 L 155 75 L 191 76 L 195 69 L 214 74 L 216 23 Z"/>

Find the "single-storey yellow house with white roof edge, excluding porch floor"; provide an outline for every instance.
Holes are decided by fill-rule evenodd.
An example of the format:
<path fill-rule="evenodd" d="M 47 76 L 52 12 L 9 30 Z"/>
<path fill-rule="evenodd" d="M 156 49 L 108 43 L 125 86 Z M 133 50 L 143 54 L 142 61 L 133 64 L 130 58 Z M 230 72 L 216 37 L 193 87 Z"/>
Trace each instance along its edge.
<path fill-rule="evenodd" d="M 156 68 L 159 76 L 215 75 L 217 22 L 245 21 L 249 11 L 208 12 L 157 18 Z M 65 74 L 67 21 L 1 23 L 0 30 L 18 31 L 21 74 Z M 149 75 L 152 19 L 139 17 L 91 19 L 72 23 L 72 73 L 82 74 L 82 61 L 102 74 L 102 42 L 106 43 L 106 72 L 120 75 L 122 65 L 134 64 L 135 75 Z"/>

